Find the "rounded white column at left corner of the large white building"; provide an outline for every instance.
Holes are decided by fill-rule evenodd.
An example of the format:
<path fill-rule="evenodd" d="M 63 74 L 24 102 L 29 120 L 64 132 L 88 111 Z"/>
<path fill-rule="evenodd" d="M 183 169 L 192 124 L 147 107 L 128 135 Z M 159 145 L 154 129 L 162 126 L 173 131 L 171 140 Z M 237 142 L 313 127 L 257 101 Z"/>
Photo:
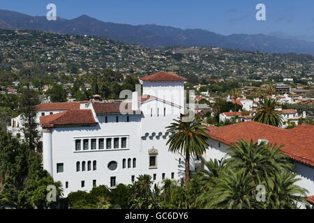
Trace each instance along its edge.
<path fill-rule="evenodd" d="M 52 176 L 52 131 L 43 129 L 43 168 Z"/>

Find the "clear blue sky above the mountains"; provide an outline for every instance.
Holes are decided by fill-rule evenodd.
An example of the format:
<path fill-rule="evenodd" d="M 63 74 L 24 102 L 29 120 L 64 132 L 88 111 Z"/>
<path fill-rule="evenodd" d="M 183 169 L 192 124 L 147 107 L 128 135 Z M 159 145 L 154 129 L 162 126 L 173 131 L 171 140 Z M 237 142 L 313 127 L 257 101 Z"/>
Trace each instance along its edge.
<path fill-rule="evenodd" d="M 232 33 L 277 33 L 314 41 L 313 0 L 2 0 L 1 9 L 45 15 L 47 3 L 57 16 L 89 15 L 105 22 L 159 24 L 181 29 Z M 255 6 L 264 3 L 267 21 L 257 21 Z"/>

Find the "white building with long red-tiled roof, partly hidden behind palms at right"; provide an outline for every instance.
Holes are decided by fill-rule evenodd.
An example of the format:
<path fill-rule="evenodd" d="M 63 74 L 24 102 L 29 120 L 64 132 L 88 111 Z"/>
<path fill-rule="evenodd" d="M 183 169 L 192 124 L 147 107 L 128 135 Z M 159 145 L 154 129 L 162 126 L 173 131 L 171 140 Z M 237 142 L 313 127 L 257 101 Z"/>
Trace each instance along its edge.
<path fill-rule="evenodd" d="M 270 144 L 283 145 L 282 151 L 294 163 L 294 172 L 301 180 L 297 185 L 308 190 L 308 197 L 314 201 L 314 126 L 298 125 L 291 130 L 276 128 L 253 121 L 209 128 L 209 149 L 206 160 L 227 157 L 227 149 L 232 144 L 245 139 L 259 142 L 267 140 Z M 312 197 L 311 197 L 312 196 Z"/>

